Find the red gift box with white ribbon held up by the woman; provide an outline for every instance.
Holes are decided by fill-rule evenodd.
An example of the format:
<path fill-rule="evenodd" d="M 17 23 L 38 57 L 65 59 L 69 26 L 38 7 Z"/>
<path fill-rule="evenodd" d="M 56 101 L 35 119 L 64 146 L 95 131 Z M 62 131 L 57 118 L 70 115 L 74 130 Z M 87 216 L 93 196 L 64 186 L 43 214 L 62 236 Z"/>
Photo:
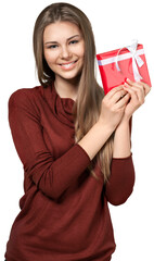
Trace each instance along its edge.
<path fill-rule="evenodd" d="M 131 46 L 97 54 L 104 94 L 129 78 L 151 85 L 143 45 Z"/>

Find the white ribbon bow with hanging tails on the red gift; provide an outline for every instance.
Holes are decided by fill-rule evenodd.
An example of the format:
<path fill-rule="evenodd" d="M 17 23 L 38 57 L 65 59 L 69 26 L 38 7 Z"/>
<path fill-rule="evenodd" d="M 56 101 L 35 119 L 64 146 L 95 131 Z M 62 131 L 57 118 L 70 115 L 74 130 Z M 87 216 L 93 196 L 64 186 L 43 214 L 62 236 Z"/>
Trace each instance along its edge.
<path fill-rule="evenodd" d="M 138 52 L 137 52 L 137 47 L 138 47 L 138 40 L 133 40 L 131 46 L 127 46 L 124 48 L 120 48 L 118 50 L 117 57 L 116 57 L 116 69 L 117 71 L 120 71 L 119 66 L 118 66 L 118 60 L 119 60 L 119 52 L 123 49 L 128 49 L 128 51 L 130 52 L 130 57 L 132 58 L 132 71 L 133 71 L 133 76 L 134 76 L 134 80 L 139 82 L 140 79 L 142 79 L 142 76 L 139 73 L 138 66 L 141 67 L 144 62 L 143 60 L 139 57 Z"/>

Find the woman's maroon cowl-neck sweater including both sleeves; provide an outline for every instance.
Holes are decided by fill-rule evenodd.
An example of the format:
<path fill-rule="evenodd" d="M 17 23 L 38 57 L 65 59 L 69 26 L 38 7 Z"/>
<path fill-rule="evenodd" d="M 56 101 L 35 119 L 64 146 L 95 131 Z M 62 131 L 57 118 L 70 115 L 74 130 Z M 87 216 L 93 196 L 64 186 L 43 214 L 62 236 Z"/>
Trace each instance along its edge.
<path fill-rule="evenodd" d="M 74 102 L 54 86 L 22 88 L 9 99 L 25 194 L 7 245 L 8 261 L 108 261 L 115 250 L 107 201 L 121 204 L 132 192 L 132 153 L 113 158 L 106 186 L 90 175 L 90 158 L 74 140 Z M 102 177 L 98 165 L 94 170 Z"/>

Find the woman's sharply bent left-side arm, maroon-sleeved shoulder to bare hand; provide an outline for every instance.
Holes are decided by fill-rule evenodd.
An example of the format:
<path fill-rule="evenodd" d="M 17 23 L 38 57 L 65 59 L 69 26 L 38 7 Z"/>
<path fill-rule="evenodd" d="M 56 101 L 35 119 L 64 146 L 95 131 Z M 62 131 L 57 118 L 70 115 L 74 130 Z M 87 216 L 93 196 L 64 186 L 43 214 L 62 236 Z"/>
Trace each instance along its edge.
<path fill-rule="evenodd" d="M 105 116 L 100 119 L 78 144 L 54 160 L 54 154 L 44 144 L 40 113 L 30 94 L 20 89 L 9 99 L 9 123 L 13 141 L 24 164 L 25 176 L 44 195 L 57 199 L 82 174 L 90 164 L 90 160 L 114 132 L 115 122 L 118 121 L 118 124 L 123 115 L 118 107 L 126 103 L 126 98 L 117 102 L 116 108 L 111 111 L 116 100 L 124 95 L 123 87 L 111 90 L 107 97 L 114 95 L 110 99 L 113 104 L 110 104 L 106 112 L 102 110 Z M 104 100 L 107 101 L 106 98 Z"/>

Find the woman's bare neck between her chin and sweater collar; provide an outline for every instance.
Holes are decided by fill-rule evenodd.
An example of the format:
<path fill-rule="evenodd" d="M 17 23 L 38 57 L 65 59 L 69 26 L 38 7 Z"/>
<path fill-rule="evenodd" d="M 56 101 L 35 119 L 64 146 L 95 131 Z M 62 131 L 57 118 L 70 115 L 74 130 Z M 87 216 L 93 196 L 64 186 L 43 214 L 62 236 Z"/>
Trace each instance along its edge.
<path fill-rule="evenodd" d="M 70 98 L 74 101 L 77 99 L 79 79 L 64 79 L 55 77 L 54 87 L 61 98 Z"/>

